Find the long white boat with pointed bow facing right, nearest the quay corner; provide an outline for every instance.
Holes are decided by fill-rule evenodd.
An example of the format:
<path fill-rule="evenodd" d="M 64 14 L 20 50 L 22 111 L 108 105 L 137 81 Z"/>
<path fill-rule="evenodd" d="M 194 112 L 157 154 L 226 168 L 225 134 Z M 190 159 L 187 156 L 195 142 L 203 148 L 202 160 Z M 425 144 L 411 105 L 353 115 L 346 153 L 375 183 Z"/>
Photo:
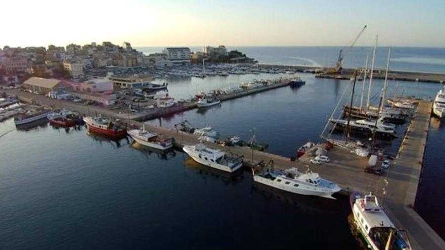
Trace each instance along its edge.
<path fill-rule="evenodd" d="M 286 171 L 271 168 L 265 168 L 260 172 L 253 171 L 253 180 L 292 193 L 326 198 L 333 198 L 332 194 L 341 190 L 337 184 L 320 178 L 317 173 L 309 170 L 301 173 L 296 168 Z"/>

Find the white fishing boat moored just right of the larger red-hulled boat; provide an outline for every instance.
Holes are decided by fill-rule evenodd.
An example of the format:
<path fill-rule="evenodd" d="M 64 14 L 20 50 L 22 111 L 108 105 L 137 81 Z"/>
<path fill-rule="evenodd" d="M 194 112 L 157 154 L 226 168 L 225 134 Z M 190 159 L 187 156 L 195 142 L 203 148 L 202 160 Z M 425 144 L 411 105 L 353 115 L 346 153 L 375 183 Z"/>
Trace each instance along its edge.
<path fill-rule="evenodd" d="M 131 129 L 127 131 L 136 142 L 144 146 L 153 147 L 160 150 L 166 150 L 173 146 L 173 138 L 163 138 L 163 136 L 145 130 L 145 125 L 142 129 Z"/>

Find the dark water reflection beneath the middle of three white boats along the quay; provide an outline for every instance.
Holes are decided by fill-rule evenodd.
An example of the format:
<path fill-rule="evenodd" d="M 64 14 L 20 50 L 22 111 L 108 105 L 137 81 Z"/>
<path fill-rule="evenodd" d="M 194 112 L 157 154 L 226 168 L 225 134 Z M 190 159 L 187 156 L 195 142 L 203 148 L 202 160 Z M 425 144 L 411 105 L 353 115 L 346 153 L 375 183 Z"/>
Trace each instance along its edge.
<path fill-rule="evenodd" d="M 242 180 L 244 180 L 244 171 L 236 171 L 234 173 L 224 172 L 218 169 L 209 168 L 207 166 L 201 165 L 197 162 L 195 162 L 192 158 L 188 157 L 187 154 L 185 155 L 187 157 L 184 160 L 184 165 L 186 165 L 187 168 L 196 170 L 196 172 L 202 176 L 202 178 L 212 178 L 215 180 L 221 180 L 226 185 L 236 185 Z"/>

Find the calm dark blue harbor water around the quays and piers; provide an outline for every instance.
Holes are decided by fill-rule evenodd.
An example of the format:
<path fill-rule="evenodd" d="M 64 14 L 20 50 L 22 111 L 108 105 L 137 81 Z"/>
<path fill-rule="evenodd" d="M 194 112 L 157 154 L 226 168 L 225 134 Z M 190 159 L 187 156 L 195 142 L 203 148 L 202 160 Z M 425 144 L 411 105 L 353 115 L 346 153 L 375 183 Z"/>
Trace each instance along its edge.
<path fill-rule="evenodd" d="M 168 86 L 172 96 L 185 98 L 196 89 L 266 77 L 281 76 L 178 78 L 169 79 Z M 243 139 L 255 128 L 269 152 L 291 156 L 307 140 L 318 140 L 348 87 L 344 80 L 301 77 L 306 85 L 297 89 L 283 87 L 149 122 L 211 124 L 223 137 Z M 382 81 L 373 86 L 376 95 Z M 440 87 L 399 82 L 397 93 L 428 97 Z M 400 126 L 398 133 L 403 130 Z M 444 139 L 443 124 L 433 119 L 416 204 L 442 237 Z M 41 125 L 23 131 L 12 120 L 0 123 L 0 249 L 284 249 L 296 242 L 310 249 L 359 247 L 347 222 L 346 199 L 289 195 L 254 184 L 249 172 L 225 175 L 182 152 L 159 156 L 130 142 L 87 135 L 83 127 L 66 132 Z M 395 153 L 399 142 L 380 143 Z"/>

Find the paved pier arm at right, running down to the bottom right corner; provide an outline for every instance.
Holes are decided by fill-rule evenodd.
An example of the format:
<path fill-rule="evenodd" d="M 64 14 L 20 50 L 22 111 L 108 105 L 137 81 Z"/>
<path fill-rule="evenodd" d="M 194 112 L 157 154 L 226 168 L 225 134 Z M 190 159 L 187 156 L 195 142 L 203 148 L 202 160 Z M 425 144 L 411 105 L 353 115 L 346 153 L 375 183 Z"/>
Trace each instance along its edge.
<path fill-rule="evenodd" d="M 445 242 L 413 209 L 431 119 L 432 103 L 420 101 L 387 180 L 384 207 L 397 227 L 410 234 L 414 249 L 445 249 Z"/>

